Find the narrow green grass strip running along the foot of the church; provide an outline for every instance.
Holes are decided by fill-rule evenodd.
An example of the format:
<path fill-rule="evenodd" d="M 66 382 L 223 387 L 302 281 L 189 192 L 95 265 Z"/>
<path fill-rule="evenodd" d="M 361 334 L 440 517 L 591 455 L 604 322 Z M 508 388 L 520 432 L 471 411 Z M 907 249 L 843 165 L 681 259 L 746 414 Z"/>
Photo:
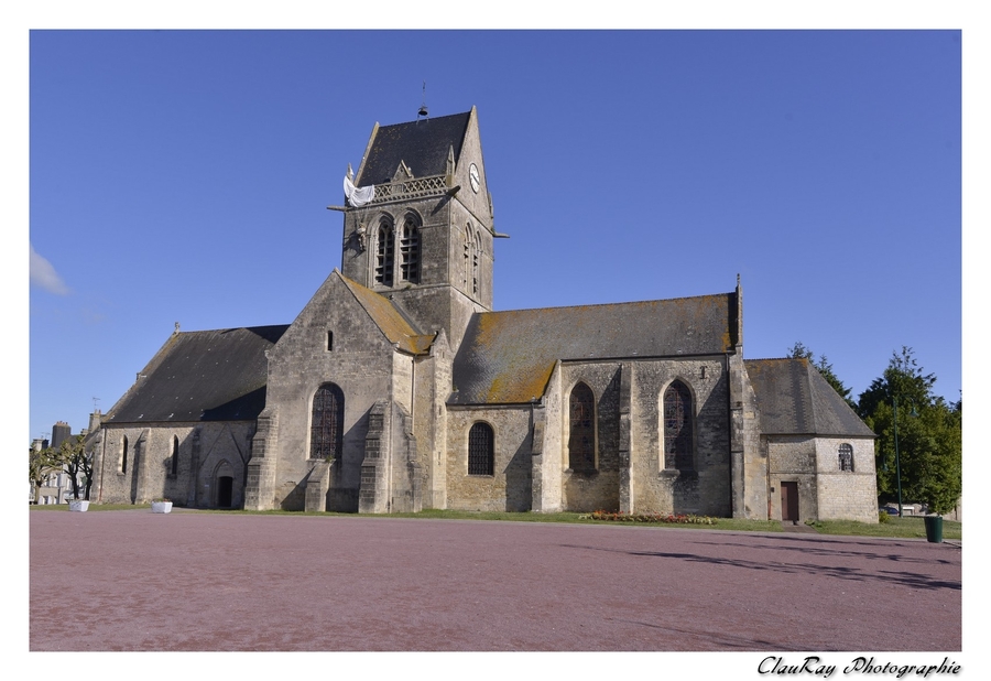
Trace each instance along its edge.
<path fill-rule="evenodd" d="M 89 511 L 106 510 L 140 510 L 150 509 L 151 506 L 131 504 L 90 504 Z M 67 504 L 31 505 L 32 511 L 67 511 Z M 262 516 L 323 516 L 323 517 L 356 517 L 355 514 L 306 514 L 302 511 L 243 511 L 243 510 L 206 510 L 183 509 L 176 507 L 173 510 L 181 512 L 200 514 L 247 514 Z M 89 512 L 87 511 L 87 512 Z M 716 518 L 714 525 L 674 523 L 674 522 L 614 522 L 609 520 L 591 520 L 587 514 L 531 514 L 510 511 L 457 511 L 427 509 L 418 514 L 382 514 L 375 516 L 362 516 L 362 518 L 426 518 L 446 520 L 510 520 L 514 522 L 573 522 L 580 525 L 617 525 L 625 527 L 665 527 L 687 528 L 694 530 L 733 530 L 738 532 L 781 532 L 781 522 L 777 520 L 743 520 L 738 518 Z M 809 522 L 821 534 L 847 534 L 853 537 L 893 537 L 907 539 L 925 539 L 926 530 L 922 517 L 915 518 L 889 518 L 887 522 L 865 523 L 852 520 L 824 520 Z M 961 523 L 952 520 L 943 521 L 943 539 L 962 539 Z"/>

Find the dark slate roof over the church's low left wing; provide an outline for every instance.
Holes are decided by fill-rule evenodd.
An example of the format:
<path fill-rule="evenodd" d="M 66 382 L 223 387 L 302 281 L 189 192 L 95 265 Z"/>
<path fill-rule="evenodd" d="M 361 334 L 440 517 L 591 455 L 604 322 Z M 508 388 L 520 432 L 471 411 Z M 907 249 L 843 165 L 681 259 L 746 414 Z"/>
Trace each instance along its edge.
<path fill-rule="evenodd" d="M 265 406 L 271 348 L 288 325 L 173 334 L 105 423 L 247 421 Z"/>

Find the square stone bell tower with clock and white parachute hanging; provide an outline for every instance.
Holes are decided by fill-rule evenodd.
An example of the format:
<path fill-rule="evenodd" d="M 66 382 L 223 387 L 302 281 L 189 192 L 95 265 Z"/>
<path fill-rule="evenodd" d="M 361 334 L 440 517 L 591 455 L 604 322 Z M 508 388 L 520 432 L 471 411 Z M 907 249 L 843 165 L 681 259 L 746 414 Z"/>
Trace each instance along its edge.
<path fill-rule="evenodd" d="M 478 114 L 375 123 L 345 180 L 345 277 L 382 294 L 425 334 L 460 345 L 492 309 L 492 198 Z"/>

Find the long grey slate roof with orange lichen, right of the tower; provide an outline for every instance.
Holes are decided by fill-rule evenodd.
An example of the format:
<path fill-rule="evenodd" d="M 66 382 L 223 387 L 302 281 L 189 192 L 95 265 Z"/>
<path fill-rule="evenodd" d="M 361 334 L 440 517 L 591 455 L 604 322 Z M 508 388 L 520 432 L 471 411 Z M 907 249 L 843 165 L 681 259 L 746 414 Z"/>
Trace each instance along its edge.
<path fill-rule="evenodd" d="M 737 294 L 475 314 L 454 360 L 449 404 L 510 404 L 544 394 L 558 359 L 722 354 Z"/>

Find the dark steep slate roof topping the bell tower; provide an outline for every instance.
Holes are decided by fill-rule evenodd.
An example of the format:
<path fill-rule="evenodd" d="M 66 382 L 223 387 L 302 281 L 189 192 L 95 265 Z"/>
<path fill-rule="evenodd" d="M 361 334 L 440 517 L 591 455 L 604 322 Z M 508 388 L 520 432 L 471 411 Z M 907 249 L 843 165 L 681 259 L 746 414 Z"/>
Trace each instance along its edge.
<path fill-rule="evenodd" d="M 356 186 L 388 184 L 405 162 L 415 177 L 443 175 L 447 172 L 447 153 L 454 147 L 455 161 L 461 156 L 461 144 L 471 112 L 426 118 L 393 126 L 380 126 L 358 169 Z"/>

